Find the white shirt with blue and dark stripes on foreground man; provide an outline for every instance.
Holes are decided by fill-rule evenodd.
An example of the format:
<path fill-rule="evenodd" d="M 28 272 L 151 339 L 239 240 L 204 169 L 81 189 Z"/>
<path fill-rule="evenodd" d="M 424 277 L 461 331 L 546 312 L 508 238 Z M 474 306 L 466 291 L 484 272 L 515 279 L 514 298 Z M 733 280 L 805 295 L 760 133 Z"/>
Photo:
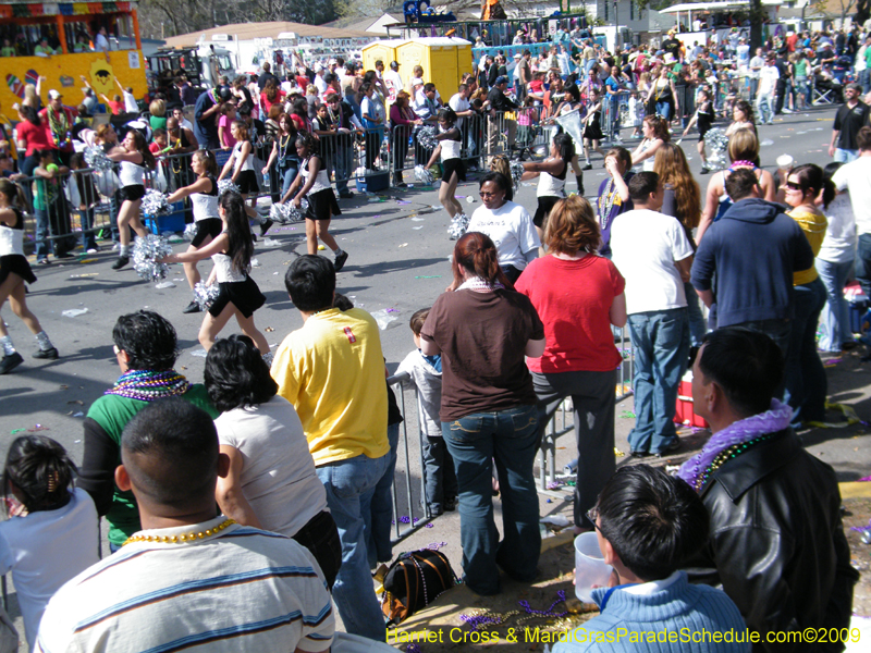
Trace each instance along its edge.
<path fill-rule="evenodd" d="M 36 651 L 210 653 L 329 650 L 332 599 L 315 558 L 283 535 L 226 518 L 137 535 L 63 586 L 49 602 Z"/>

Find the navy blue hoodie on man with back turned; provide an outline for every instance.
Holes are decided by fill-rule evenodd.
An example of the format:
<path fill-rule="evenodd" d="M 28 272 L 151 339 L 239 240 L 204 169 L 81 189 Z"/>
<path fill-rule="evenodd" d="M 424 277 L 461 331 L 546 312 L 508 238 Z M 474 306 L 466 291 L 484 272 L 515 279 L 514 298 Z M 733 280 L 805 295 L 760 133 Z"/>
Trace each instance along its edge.
<path fill-rule="evenodd" d="M 794 317 L 793 272 L 813 266 L 798 223 L 764 199 L 736 201 L 704 233 L 690 281 L 714 288 L 717 326 Z"/>

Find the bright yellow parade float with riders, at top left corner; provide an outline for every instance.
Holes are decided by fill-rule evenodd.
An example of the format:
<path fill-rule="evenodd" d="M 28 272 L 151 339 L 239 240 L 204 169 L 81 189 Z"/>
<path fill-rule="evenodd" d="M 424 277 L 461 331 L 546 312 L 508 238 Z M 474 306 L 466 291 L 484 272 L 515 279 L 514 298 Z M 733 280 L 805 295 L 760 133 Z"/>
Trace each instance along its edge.
<path fill-rule="evenodd" d="M 82 99 L 81 76 L 99 98 L 131 87 L 147 91 L 136 2 L 28 2 L 0 0 L 0 106 L 24 97 L 26 84 L 63 95 L 75 107 Z M 115 82 L 118 79 L 118 82 Z"/>

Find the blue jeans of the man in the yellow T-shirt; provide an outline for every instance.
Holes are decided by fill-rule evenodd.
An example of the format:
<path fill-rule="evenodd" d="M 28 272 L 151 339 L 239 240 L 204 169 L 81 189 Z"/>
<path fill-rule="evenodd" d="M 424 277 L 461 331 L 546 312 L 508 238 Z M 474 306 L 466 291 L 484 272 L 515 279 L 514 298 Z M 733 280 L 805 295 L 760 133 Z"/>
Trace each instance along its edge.
<path fill-rule="evenodd" d="M 342 541 L 342 567 L 333 586 L 333 601 L 347 632 L 379 642 L 387 640 L 387 629 L 369 574 L 364 515 L 371 509 L 376 484 L 384 476 L 389 459 L 388 454 L 380 458 L 359 455 L 317 468 Z"/>

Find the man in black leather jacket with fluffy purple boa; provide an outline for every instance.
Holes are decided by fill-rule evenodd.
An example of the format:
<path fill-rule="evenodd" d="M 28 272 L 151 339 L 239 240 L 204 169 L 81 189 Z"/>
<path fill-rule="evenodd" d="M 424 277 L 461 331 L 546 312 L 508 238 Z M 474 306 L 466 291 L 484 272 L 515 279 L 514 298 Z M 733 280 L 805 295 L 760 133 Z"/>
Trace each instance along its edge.
<path fill-rule="evenodd" d="M 773 398 L 783 369 L 774 341 L 740 328 L 709 333 L 696 357 L 695 410 L 713 435 L 678 476 L 699 491 L 711 533 L 687 571 L 695 582 L 722 584 L 760 633 L 755 651 L 841 651 L 839 642 L 765 641 L 847 628 L 859 578 L 835 471 L 803 449 L 790 408 Z"/>

